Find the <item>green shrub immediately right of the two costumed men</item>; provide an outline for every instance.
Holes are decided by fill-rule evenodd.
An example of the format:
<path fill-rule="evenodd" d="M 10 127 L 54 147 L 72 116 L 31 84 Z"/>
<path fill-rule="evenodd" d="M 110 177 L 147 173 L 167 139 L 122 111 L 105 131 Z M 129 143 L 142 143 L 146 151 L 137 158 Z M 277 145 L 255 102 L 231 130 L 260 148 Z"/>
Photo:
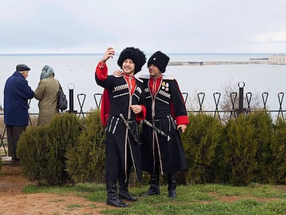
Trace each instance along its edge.
<path fill-rule="evenodd" d="M 207 114 L 190 114 L 190 124 L 182 133 L 188 162 L 187 183 L 211 183 L 216 169 L 216 147 L 220 142 L 222 125 L 217 118 Z"/>

